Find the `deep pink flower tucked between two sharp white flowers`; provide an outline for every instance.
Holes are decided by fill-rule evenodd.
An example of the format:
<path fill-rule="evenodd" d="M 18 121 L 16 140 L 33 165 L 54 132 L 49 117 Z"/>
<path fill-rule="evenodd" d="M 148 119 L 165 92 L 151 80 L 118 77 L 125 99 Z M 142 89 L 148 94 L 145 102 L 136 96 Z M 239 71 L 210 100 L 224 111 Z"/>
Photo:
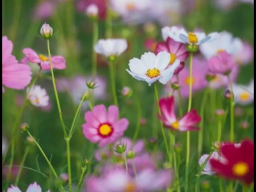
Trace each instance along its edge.
<path fill-rule="evenodd" d="M 157 43 L 155 53 L 157 54 L 161 51 L 166 51 L 171 54 L 171 65 L 176 59 L 180 61 L 186 60 L 189 55 L 189 52 L 186 50 L 186 46 L 184 44 L 175 42 L 175 40 L 170 37 L 168 37 L 165 42 Z"/>

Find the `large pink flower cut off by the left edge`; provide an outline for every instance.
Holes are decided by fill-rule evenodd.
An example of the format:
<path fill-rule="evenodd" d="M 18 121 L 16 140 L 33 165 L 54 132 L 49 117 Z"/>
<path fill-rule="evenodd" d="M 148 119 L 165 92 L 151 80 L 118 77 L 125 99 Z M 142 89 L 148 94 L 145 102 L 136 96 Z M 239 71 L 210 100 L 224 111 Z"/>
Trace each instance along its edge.
<path fill-rule="evenodd" d="M 3 85 L 15 90 L 23 90 L 31 81 L 31 68 L 19 64 L 12 55 L 13 44 L 7 36 L 2 37 L 2 81 Z M 4 92 L 4 88 L 2 88 Z"/>

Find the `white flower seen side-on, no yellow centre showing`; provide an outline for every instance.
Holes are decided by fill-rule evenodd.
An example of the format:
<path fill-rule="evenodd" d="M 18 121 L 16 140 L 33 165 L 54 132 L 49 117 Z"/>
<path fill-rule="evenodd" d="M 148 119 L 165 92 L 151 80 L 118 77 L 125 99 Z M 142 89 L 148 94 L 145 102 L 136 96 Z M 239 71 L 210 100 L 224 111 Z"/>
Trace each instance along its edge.
<path fill-rule="evenodd" d="M 106 57 L 119 56 L 127 49 L 127 42 L 122 38 L 108 38 L 106 40 L 100 39 L 94 45 L 94 51 L 103 54 Z"/>

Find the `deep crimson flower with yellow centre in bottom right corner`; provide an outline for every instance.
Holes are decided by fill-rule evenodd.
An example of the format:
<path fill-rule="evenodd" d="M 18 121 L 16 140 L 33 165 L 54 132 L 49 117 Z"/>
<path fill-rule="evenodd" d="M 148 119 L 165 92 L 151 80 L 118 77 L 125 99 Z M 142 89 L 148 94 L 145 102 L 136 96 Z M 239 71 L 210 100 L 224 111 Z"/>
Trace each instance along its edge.
<path fill-rule="evenodd" d="M 226 179 L 241 180 L 252 184 L 254 180 L 254 143 L 244 140 L 241 143 L 225 143 L 220 148 L 220 159 L 210 159 L 211 168 L 217 175 Z"/>

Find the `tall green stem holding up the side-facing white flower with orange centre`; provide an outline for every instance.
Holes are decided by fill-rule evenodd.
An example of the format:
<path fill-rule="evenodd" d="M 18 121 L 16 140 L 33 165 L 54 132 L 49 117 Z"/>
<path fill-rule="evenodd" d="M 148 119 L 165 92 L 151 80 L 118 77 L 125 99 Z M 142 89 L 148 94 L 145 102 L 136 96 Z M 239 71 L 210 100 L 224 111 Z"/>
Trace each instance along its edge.
<path fill-rule="evenodd" d="M 188 112 L 191 110 L 192 104 L 192 64 L 193 64 L 193 52 L 189 53 L 189 100 L 188 100 Z M 185 175 L 185 192 L 188 191 L 188 173 L 189 173 L 189 145 L 190 145 L 190 132 L 187 132 L 187 154 L 186 154 L 186 175 Z"/>

